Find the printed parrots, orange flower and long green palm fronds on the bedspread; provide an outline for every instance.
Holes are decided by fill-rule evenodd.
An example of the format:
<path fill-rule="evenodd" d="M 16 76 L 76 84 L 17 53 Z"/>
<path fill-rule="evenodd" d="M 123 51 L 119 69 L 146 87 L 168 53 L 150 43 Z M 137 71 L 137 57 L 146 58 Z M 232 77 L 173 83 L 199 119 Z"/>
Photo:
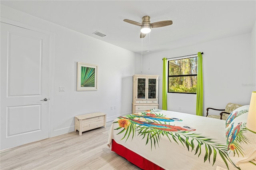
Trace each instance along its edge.
<path fill-rule="evenodd" d="M 135 113 L 132 115 L 126 115 L 124 117 L 118 117 L 119 120 L 113 123 L 119 123 L 119 127 L 114 130 L 120 130 L 117 134 L 124 134 L 121 140 L 128 140 L 131 137 L 131 140 L 134 136 L 141 136 L 142 139 L 146 139 L 146 144 L 151 145 L 152 148 L 156 149 L 159 147 L 159 142 L 161 141 L 162 137 L 166 136 L 170 142 L 175 142 L 176 144 L 182 144 L 184 147 L 188 149 L 190 152 L 195 152 L 195 155 L 200 156 L 202 153 L 202 149 L 205 149 L 204 155 L 204 162 L 208 161 L 212 166 L 214 165 L 217 157 L 217 153 L 220 155 L 224 163 L 228 167 L 228 162 L 232 161 L 228 157 L 227 153 L 227 146 L 218 143 L 215 139 L 208 138 L 206 136 L 201 136 L 201 134 L 192 132 L 195 129 L 189 128 L 188 130 L 181 130 L 170 129 L 170 128 L 158 128 L 156 125 L 162 125 L 163 127 L 175 127 L 174 125 L 170 125 L 173 122 L 166 122 L 160 120 L 154 120 L 150 118 L 150 115 L 154 117 L 162 117 L 165 118 L 164 115 L 156 112 L 142 112 L 142 113 Z M 175 119 L 175 118 L 174 118 Z M 163 119 L 164 120 L 164 119 Z M 175 119 L 177 121 L 177 119 Z M 144 125 L 140 124 L 140 121 L 144 122 Z M 122 123 L 120 123 L 122 122 Z M 126 125 L 126 126 L 125 126 Z M 174 130 L 174 131 L 173 131 Z"/>

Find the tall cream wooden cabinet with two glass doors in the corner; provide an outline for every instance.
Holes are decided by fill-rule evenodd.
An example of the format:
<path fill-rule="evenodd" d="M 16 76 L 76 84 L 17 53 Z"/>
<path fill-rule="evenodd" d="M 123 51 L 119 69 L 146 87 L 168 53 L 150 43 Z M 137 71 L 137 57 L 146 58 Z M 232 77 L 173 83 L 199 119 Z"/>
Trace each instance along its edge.
<path fill-rule="evenodd" d="M 133 76 L 132 113 L 158 109 L 159 75 Z"/>

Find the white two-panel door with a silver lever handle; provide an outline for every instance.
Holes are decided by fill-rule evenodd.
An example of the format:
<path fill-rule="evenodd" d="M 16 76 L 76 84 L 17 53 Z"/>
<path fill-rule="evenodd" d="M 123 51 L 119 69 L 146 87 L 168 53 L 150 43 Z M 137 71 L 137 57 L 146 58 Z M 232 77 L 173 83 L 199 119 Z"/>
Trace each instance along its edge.
<path fill-rule="evenodd" d="M 1 22 L 1 150 L 49 137 L 49 37 Z"/>

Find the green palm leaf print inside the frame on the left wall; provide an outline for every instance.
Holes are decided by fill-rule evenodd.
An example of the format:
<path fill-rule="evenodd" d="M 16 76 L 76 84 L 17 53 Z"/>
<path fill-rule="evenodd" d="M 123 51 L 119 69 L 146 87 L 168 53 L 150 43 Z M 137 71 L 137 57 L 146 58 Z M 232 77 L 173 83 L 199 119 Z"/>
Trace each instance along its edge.
<path fill-rule="evenodd" d="M 81 67 L 81 87 L 95 86 L 95 68 Z"/>

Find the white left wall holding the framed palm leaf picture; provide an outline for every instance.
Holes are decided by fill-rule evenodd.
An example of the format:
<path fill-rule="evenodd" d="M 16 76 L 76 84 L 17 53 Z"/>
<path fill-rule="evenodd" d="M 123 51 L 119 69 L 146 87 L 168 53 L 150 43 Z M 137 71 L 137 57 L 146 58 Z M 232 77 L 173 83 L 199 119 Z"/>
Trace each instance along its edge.
<path fill-rule="evenodd" d="M 132 112 L 134 52 L 1 5 L 1 17 L 54 34 L 50 136 L 74 131 L 74 117 L 104 112 L 107 121 Z M 98 91 L 76 91 L 77 62 L 98 65 Z M 65 92 L 59 92 L 64 87 Z M 110 110 L 111 106 L 116 109 Z"/>

